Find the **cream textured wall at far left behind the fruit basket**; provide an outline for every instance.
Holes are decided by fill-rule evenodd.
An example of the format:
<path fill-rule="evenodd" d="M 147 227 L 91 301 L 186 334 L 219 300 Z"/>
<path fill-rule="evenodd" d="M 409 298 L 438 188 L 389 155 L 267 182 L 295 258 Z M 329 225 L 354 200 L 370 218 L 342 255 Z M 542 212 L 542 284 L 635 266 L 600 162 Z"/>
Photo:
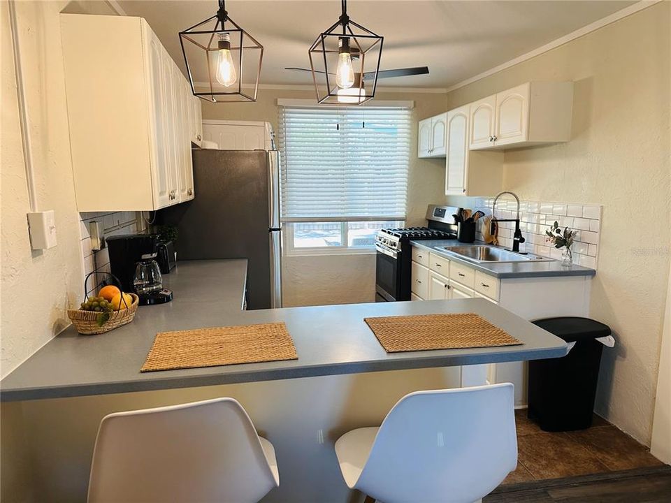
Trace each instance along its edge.
<path fill-rule="evenodd" d="M 10 39 L 2 15 L 2 369 L 5 376 L 68 325 L 81 295 L 75 206 L 58 22 L 66 2 L 17 2 L 39 209 L 55 210 L 55 248 L 31 251 L 29 212 Z"/>

